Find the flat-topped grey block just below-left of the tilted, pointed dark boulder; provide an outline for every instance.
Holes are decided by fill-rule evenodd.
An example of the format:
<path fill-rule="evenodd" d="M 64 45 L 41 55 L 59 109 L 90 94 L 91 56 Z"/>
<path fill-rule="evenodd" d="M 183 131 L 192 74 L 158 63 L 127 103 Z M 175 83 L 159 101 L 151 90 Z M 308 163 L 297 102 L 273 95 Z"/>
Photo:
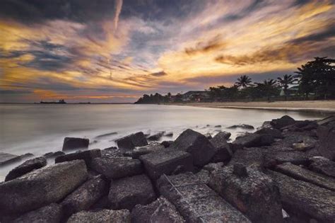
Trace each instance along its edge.
<path fill-rule="evenodd" d="M 177 166 L 183 166 L 184 171 L 193 170 L 192 156 L 186 151 L 163 149 L 140 156 L 140 159 L 146 168 L 148 176 L 153 180 L 159 178 L 163 173 L 172 173 Z"/>

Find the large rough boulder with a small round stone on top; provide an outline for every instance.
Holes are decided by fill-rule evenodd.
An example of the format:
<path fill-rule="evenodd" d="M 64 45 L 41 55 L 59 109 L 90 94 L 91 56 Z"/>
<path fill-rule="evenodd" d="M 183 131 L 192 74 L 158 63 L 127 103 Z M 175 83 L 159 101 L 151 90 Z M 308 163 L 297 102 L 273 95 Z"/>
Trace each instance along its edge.
<path fill-rule="evenodd" d="M 208 183 L 252 222 L 283 222 L 276 183 L 261 171 L 235 164 L 211 173 Z"/>

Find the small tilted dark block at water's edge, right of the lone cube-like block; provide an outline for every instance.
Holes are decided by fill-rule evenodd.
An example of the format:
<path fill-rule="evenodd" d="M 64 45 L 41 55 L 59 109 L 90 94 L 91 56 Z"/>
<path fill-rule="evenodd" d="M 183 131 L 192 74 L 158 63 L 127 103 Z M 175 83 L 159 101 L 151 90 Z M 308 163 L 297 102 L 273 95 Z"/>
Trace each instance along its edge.
<path fill-rule="evenodd" d="M 115 141 L 119 149 L 134 149 L 135 147 L 143 147 L 148 144 L 146 137 L 143 132 L 136 132 L 131 135 L 127 135 L 121 139 Z"/>

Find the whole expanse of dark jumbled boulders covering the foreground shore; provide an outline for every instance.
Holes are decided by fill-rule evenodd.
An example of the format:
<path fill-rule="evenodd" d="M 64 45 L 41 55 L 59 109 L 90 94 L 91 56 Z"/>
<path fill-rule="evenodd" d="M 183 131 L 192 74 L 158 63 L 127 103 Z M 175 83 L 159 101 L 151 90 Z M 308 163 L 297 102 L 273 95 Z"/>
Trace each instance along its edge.
<path fill-rule="evenodd" d="M 0 222 L 335 221 L 335 116 L 286 115 L 233 142 L 194 130 L 157 142 L 163 134 L 90 150 L 65 138 L 74 152 L 28 159 L 0 183 Z M 0 168 L 22 158 L 0 153 Z"/>

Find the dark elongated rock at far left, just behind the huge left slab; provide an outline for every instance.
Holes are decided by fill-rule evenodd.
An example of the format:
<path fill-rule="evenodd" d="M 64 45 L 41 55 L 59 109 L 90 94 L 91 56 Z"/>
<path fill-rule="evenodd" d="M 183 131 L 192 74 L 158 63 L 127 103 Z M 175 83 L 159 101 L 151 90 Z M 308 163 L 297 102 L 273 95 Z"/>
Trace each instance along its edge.
<path fill-rule="evenodd" d="M 11 181 L 15 178 L 25 175 L 25 173 L 29 173 L 37 168 L 42 168 L 47 165 L 47 159 L 45 157 L 37 157 L 34 159 L 29 159 L 25 161 L 23 164 L 16 166 L 13 168 L 6 176 L 5 181 Z"/>

